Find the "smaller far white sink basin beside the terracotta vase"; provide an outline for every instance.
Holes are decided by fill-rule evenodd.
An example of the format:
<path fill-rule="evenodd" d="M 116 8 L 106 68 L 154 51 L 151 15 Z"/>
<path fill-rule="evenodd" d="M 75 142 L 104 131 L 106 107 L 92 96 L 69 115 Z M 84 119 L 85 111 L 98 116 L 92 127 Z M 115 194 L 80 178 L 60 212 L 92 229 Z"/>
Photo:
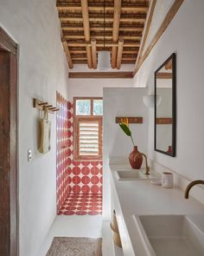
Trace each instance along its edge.
<path fill-rule="evenodd" d="M 116 176 L 118 178 L 118 181 L 139 181 L 147 179 L 158 179 L 158 175 L 145 175 L 141 170 L 116 171 Z"/>

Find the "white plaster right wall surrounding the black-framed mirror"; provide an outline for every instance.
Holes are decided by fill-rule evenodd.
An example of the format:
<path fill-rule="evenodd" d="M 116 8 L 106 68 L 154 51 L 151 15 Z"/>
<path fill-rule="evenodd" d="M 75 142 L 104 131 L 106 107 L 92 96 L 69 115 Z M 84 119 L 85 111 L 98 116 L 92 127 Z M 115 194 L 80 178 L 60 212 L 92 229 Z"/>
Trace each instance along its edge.
<path fill-rule="evenodd" d="M 204 179 L 203 60 L 204 1 L 186 0 L 135 76 L 135 85 L 153 90 L 154 71 L 176 53 L 176 157 L 153 150 L 154 111 L 149 111 L 149 155 L 190 180 Z M 156 14 L 155 14 L 156 15 Z M 192 18 L 190 18 L 192 17 Z"/>

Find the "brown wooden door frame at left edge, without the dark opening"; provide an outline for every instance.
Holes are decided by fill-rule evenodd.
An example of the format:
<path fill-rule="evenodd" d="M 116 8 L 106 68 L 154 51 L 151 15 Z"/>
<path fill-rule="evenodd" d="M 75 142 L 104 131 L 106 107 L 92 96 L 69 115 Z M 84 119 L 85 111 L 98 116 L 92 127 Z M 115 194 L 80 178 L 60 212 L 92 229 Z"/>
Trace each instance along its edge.
<path fill-rule="evenodd" d="M 9 60 L 9 79 L 8 79 L 8 106 L 5 111 L 8 111 L 9 115 L 9 136 L 5 136 L 5 140 L 8 141 L 8 152 L 3 152 L 6 159 L 3 158 L 4 165 L 5 162 L 8 164 L 8 168 L 2 170 L 2 175 L 7 174 L 7 179 L 9 180 L 9 188 L 7 188 L 9 202 L 7 205 L 7 216 L 5 220 L 7 222 L 7 235 L 5 235 L 5 240 L 8 240 L 8 246 L 1 245 L 3 252 L 6 252 L 4 256 L 17 256 L 19 250 L 19 240 L 18 240 L 18 133 L 17 133 L 17 113 L 18 113 L 18 45 L 10 38 L 10 36 L 0 27 L 0 49 L 8 55 Z M 3 109 L 4 111 L 4 109 Z M 3 137 L 4 138 L 4 137 Z M 7 148 L 7 147 L 6 147 Z M 8 149 L 7 148 L 7 149 Z M 6 149 L 4 149 L 6 151 Z M 2 176 L 3 178 L 3 176 Z M 1 174 L 0 174 L 1 179 Z M 2 215 L 4 216 L 4 215 Z M 9 222 L 9 223 L 8 223 Z M 1 254 L 1 252 L 0 252 Z"/>

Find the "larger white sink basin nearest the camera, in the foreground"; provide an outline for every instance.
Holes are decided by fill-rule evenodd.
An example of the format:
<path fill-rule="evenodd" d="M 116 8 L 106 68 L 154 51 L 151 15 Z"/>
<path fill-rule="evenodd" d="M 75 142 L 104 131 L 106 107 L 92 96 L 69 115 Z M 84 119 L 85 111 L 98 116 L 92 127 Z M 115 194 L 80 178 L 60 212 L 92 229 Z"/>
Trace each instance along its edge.
<path fill-rule="evenodd" d="M 148 256 L 203 256 L 204 216 L 202 218 L 201 226 L 198 226 L 192 216 L 134 216 Z"/>

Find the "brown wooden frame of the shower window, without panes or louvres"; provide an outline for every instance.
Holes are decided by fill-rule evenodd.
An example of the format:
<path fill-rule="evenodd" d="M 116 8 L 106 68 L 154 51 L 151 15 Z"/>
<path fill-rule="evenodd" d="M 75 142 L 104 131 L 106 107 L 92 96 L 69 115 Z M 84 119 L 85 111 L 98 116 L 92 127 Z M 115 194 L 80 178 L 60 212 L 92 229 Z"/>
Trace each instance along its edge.
<path fill-rule="evenodd" d="M 76 115 L 76 101 L 90 100 L 91 115 Z M 102 97 L 73 97 L 73 159 L 74 161 L 101 161 L 103 158 L 103 115 L 93 115 L 93 100 L 103 100 Z M 99 121 L 99 154 L 80 155 L 79 129 L 80 121 Z"/>

